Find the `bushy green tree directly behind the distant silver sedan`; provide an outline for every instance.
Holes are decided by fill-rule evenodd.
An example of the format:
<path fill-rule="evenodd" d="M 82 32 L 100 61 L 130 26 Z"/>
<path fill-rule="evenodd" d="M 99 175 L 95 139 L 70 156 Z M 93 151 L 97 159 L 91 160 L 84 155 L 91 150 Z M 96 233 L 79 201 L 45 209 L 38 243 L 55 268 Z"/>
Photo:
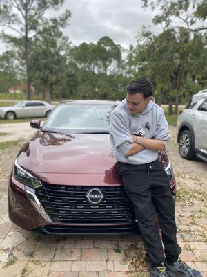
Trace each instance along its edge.
<path fill-rule="evenodd" d="M 33 80 L 41 84 L 47 102 L 51 91 L 65 76 L 66 53 L 70 43 L 59 28 L 47 28 L 33 44 L 30 72 Z"/>

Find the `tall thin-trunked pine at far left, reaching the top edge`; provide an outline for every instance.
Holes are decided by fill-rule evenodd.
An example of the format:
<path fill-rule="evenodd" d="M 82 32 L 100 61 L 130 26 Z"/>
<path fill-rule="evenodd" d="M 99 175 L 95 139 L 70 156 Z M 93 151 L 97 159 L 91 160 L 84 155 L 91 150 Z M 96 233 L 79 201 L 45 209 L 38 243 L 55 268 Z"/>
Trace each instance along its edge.
<path fill-rule="evenodd" d="M 30 55 L 32 41 L 48 28 L 65 27 L 70 17 L 66 10 L 58 19 L 44 17 L 50 8 L 59 8 L 64 0 L 2 0 L 0 3 L 1 26 L 8 27 L 17 35 L 1 33 L 4 42 L 15 46 L 23 53 L 27 75 L 27 98 L 31 99 Z"/>

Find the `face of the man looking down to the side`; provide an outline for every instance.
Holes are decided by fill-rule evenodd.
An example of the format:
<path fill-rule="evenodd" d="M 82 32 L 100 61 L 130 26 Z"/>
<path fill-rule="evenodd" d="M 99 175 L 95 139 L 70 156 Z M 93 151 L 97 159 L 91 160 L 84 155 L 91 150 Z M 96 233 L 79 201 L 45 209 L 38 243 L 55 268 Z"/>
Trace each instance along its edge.
<path fill-rule="evenodd" d="M 126 94 L 126 102 L 128 105 L 128 109 L 130 114 L 139 114 L 141 111 L 144 111 L 148 102 L 150 102 L 151 98 L 144 98 L 142 93 L 135 94 Z"/>

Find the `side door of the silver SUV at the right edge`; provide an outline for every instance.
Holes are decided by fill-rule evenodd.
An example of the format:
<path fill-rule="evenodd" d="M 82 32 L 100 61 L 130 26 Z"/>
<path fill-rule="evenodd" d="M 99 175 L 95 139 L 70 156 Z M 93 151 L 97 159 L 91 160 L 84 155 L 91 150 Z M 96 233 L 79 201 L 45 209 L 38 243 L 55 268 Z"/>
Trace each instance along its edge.
<path fill-rule="evenodd" d="M 207 154 L 207 99 L 197 109 L 196 117 L 197 136 L 195 147 Z"/>

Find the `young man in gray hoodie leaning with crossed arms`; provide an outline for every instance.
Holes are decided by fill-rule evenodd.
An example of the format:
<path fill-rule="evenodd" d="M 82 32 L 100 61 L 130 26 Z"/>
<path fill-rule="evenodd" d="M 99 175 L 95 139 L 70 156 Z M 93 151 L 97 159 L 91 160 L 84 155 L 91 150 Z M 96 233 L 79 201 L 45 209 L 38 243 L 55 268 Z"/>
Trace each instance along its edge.
<path fill-rule="evenodd" d="M 112 111 L 110 141 L 151 263 L 150 276 L 201 277 L 199 271 L 179 260 L 175 204 L 168 175 L 157 160 L 159 150 L 166 150 L 170 139 L 168 123 L 152 91 L 146 78 L 132 80 L 126 98 Z"/>

